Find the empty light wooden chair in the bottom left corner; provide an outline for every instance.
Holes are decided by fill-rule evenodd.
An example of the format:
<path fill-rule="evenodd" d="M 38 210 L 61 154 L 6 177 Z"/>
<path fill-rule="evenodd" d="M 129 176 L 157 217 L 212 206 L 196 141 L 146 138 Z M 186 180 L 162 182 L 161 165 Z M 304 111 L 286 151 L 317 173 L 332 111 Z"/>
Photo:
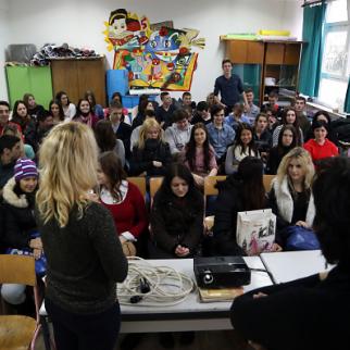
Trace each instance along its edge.
<path fill-rule="evenodd" d="M 40 330 L 39 298 L 33 257 L 0 254 L 0 284 L 22 284 L 34 288 L 36 320 L 24 315 L 0 315 L 0 349 L 35 348 Z"/>

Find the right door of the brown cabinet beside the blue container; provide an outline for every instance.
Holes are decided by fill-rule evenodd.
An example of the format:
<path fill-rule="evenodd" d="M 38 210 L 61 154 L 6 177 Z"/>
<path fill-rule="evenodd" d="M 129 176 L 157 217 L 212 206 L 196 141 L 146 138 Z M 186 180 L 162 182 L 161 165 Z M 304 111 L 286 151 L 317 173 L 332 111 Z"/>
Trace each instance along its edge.
<path fill-rule="evenodd" d="M 77 61 L 79 96 L 87 90 L 95 93 L 96 102 L 105 105 L 105 68 L 104 59 Z"/>

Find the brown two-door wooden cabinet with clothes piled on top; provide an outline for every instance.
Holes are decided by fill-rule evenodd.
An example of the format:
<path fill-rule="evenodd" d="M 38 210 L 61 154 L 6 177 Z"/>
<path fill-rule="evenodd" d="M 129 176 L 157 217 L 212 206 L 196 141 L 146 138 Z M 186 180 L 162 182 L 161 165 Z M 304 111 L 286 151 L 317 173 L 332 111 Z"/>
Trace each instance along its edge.
<path fill-rule="evenodd" d="M 77 103 L 87 90 L 91 90 L 97 103 L 105 105 L 104 58 L 52 60 L 51 72 L 54 95 L 63 90 L 73 103 Z"/>

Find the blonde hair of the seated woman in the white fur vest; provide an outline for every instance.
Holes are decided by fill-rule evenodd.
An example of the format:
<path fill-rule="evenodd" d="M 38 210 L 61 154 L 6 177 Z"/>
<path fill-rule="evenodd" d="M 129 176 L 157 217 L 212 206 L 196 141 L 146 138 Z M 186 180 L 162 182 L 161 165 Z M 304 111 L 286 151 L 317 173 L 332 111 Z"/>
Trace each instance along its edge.
<path fill-rule="evenodd" d="M 309 152 L 301 147 L 295 147 L 283 158 L 277 170 L 278 184 L 282 184 L 285 176 L 287 176 L 288 184 L 290 184 L 288 166 L 292 159 L 297 159 L 300 162 L 303 171 L 305 172 L 303 187 L 304 189 L 309 189 L 311 187 L 315 170 Z"/>

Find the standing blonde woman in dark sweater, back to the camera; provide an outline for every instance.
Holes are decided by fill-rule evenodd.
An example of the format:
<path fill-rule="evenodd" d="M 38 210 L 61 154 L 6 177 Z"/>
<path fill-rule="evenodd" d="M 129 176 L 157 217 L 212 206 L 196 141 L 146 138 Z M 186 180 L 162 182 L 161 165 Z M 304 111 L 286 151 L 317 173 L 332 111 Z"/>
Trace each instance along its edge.
<path fill-rule="evenodd" d="M 58 350 L 112 350 L 120 328 L 115 283 L 127 261 L 113 218 L 92 201 L 97 145 L 80 123 L 57 125 L 40 149 L 36 218 L 48 260 L 46 308 Z"/>

